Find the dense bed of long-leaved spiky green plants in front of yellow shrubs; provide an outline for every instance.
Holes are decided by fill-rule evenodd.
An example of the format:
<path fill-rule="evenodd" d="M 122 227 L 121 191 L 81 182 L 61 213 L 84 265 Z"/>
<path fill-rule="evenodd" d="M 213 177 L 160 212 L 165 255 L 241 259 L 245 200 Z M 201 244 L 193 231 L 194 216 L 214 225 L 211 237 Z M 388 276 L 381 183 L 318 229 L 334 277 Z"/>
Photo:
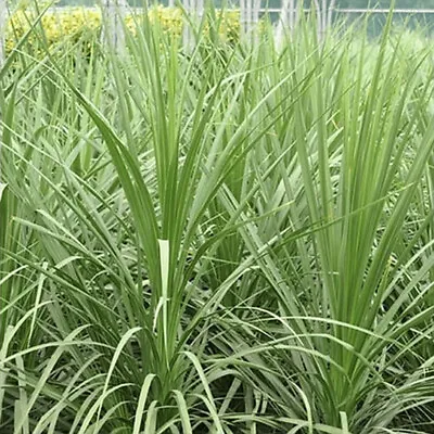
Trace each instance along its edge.
<path fill-rule="evenodd" d="M 144 23 L 122 56 L 42 61 L 23 38 L 2 432 L 430 432 L 433 52 L 390 26 L 186 52 Z"/>

